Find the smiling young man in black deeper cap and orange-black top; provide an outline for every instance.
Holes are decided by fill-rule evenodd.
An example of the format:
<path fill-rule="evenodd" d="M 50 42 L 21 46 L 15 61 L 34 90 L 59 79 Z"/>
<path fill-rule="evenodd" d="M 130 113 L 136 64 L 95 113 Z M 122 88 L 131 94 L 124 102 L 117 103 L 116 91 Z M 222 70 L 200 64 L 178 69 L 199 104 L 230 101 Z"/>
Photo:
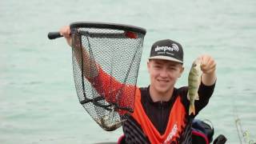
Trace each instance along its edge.
<path fill-rule="evenodd" d="M 70 28 L 64 26 L 60 33 L 71 46 Z M 85 55 L 86 52 L 84 52 Z M 87 58 L 85 57 L 85 58 Z M 216 64 L 209 55 L 201 60 L 202 82 L 199 86 L 199 100 L 194 102 L 195 114 L 189 115 L 190 101 L 188 87 L 175 88 L 174 85 L 184 70 L 183 50 L 178 42 L 170 39 L 155 42 L 151 47 L 147 62 L 150 86 L 136 89 L 134 113 L 123 124 L 122 143 L 191 143 L 191 123 L 200 110 L 209 102 L 216 82 Z M 96 63 L 96 62 L 95 62 Z M 98 71 L 94 79 L 110 78 L 95 64 Z M 89 78 L 90 79 L 90 78 Z M 111 79 L 113 82 L 113 78 Z M 96 80 L 97 83 L 97 80 Z M 107 80 L 105 82 L 107 87 Z M 116 82 L 116 86 L 119 83 Z M 95 84 L 97 88 L 97 84 Z M 100 90 L 98 90 L 100 91 Z M 107 88 L 103 91 L 107 91 Z M 129 91 L 129 90 L 127 90 Z M 105 93 L 106 94 L 106 93 Z M 111 98 L 106 95 L 106 100 Z M 129 100 L 128 100 L 129 101 Z M 123 101 L 126 105 L 127 100 Z"/>

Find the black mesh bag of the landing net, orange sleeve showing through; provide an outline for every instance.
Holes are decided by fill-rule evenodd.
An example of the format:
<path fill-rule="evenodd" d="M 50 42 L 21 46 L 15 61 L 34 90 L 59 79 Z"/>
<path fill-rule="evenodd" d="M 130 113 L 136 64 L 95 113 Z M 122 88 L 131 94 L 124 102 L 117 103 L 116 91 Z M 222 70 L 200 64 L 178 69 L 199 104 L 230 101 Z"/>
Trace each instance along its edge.
<path fill-rule="evenodd" d="M 84 26 L 71 27 L 71 34 L 79 101 L 99 126 L 115 130 L 134 110 L 145 34 Z M 102 72 L 109 77 L 100 77 Z"/>

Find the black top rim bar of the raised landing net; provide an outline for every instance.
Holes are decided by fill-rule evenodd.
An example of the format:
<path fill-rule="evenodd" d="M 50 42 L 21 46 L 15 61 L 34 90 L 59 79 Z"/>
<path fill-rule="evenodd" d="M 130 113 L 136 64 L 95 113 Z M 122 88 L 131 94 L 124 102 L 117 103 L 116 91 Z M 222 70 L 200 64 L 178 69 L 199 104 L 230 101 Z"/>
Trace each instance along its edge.
<path fill-rule="evenodd" d="M 107 28 L 111 30 L 126 30 L 137 33 L 146 34 L 146 29 L 138 26 L 124 25 L 118 23 L 109 23 L 109 22 L 72 22 L 70 23 L 70 29 L 73 28 Z"/>

